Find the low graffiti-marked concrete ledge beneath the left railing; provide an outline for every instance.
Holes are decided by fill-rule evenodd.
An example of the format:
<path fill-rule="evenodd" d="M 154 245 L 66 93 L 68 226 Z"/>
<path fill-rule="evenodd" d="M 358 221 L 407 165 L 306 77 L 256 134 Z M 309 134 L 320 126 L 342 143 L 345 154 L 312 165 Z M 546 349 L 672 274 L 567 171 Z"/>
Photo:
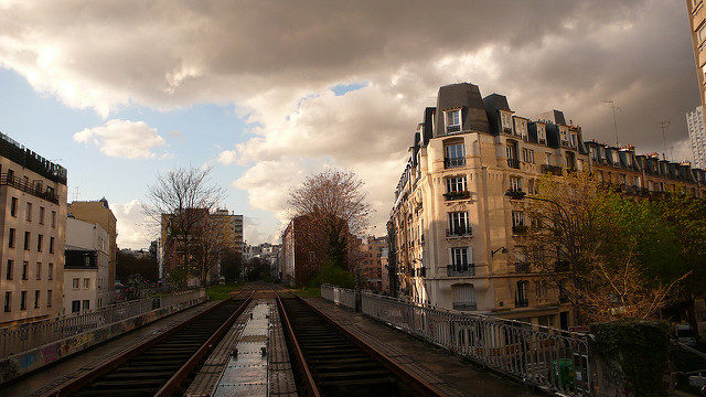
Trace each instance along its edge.
<path fill-rule="evenodd" d="M 72 335 L 0 361 L 0 384 L 56 363 L 83 350 L 130 332 L 152 321 L 205 302 L 205 296 L 169 308 L 160 308 L 106 326 Z"/>

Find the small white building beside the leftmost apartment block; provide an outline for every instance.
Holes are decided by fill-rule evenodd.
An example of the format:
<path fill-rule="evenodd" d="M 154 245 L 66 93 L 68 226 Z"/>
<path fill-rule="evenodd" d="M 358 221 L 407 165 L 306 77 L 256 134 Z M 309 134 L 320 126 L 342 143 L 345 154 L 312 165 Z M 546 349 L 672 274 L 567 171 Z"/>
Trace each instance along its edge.
<path fill-rule="evenodd" d="M 110 303 L 108 242 L 108 233 L 100 225 L 66 219 L 65 314 Z"/>

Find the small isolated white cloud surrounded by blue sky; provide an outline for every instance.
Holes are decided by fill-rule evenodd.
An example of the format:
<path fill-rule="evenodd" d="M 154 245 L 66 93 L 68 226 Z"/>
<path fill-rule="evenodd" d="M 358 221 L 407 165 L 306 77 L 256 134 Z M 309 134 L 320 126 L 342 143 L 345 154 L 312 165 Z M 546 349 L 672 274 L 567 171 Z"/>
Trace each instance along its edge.
<path fill-rule="evenodd" d="M 148 159 L 158 157 L 152 151 L 164 146 L 164 139 L 145 121 L 113 119 L 100 127 L 86 128 L 74 133 L 78 143 L 93 143 L 101 153 L 121 159 Z M 169 158 L 162 153 L 160 159 Z"/>

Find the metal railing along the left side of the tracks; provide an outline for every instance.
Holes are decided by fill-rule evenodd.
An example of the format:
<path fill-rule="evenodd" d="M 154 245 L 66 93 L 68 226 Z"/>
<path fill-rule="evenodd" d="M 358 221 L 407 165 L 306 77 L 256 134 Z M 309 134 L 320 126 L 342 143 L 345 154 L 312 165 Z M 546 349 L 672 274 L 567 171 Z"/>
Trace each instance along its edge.
<path fill-rule="evenodd" d="M 0 330 L 0 358 L 26 352 L 47 343 L 95 330 L 159 308 L 186 307 L 203 300 L 203 289 L 178 292 L 161 298 L 145 298 L 125 303 L 111 304 L 77 314 L 20 324 Z"/>

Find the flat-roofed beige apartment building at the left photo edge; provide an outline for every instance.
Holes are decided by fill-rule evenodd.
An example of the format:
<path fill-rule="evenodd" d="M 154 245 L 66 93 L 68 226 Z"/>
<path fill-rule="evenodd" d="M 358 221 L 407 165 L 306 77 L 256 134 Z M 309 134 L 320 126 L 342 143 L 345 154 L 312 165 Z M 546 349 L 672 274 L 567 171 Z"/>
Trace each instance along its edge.
<path fill-rule="evenodd" d="M 66 169 L 0 135 L 0 326 L 62 311 Z"/>

